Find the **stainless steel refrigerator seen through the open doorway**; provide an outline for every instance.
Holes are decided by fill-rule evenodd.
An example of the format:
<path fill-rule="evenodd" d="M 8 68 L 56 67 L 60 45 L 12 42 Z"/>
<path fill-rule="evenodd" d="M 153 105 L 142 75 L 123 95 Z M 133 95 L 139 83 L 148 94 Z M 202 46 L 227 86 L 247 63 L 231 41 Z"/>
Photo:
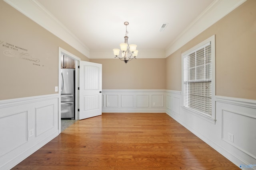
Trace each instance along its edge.
<path fill-rule="evenodd" d="M 73 68 L 61 69 L 61 118 L 74 119 L 74 73 Z"/>

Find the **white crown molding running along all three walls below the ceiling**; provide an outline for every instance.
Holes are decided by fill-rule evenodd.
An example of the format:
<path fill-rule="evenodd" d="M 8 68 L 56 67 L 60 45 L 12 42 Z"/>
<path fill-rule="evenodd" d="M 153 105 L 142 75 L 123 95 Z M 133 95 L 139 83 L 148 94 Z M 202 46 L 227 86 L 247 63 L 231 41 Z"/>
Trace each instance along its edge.
<path fill-rule="evenodd" d="M 80 53 L 88 58 L 106 58 L 108 52 L 92 51 L 86 47 L 70 30 L 68 30 L 60 21 L 50 14 L 37 0 L 4 0 L 13 8 L 38 23 L 46 30 L 50 31 Z M 222 19 L 232 10 L 236 9 L 246 0 L 215 0 L 208 8 L 200 14 L 178 37 L 165 49 L 165 51 L 154 52 L 144 51 L 140 54 L 142 58 L 166 58 L 177 51 L 180 47 L 188 43 L 194 37 L 202 33 L 208 27 Z M 201 28 L 201 29 L 198 29 Z M 149 55 L 150 54 L 150 55 Z M 112 56 L 112 55 L 111 55 Z M 143 57 L 144 56 L 144 57 Z"/>

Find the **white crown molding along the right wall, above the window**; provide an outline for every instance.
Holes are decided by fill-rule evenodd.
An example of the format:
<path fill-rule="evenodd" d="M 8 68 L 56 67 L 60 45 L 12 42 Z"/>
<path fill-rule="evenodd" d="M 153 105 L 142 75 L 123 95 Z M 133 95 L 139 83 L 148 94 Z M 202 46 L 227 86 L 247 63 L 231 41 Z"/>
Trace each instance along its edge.
<path fill-rule="evenodd" d="M 165 57 L 170 56 L 208 27 L 222 19 L 246 0 L 215 0 L 166 48 Z"/>

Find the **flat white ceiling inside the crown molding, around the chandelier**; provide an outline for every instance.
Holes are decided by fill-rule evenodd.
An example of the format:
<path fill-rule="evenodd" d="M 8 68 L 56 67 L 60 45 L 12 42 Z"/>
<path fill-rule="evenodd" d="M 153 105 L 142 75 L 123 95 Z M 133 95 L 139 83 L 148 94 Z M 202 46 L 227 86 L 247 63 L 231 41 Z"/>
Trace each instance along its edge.
<path fill-rule="evenodd" d="M 164 51 L 214 0 L 37 0 L 91 51 L 124 42 Z M 168 23 L 164 31 L 159 31 Z M 138 57 L 139 57 L 138 54 Z M 114 55 L 113 55 L 114 56 Z"/>

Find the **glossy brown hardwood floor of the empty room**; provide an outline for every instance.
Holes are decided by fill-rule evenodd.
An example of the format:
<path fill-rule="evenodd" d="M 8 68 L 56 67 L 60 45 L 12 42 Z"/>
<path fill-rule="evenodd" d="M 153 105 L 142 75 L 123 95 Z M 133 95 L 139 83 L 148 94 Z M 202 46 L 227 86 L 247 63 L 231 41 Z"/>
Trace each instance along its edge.
<path fill-rule="evenodd" d="M 13 170 L 240 169 L 166 113 L 76 121 Z"/>

